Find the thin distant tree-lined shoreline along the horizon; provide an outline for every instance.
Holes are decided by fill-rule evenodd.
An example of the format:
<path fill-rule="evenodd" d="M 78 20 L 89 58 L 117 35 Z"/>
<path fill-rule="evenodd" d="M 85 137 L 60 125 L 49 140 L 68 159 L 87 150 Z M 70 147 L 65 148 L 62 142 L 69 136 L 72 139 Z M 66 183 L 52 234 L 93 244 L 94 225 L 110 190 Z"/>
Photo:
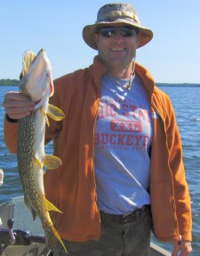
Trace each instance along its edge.
<path fill-rule="evenodd" d="M 0 87 L 19 87 L 18 79 L 0 79 Z M 193 83 L 156 83 L 156 87 L 200 87 L 200 84 Z"/>

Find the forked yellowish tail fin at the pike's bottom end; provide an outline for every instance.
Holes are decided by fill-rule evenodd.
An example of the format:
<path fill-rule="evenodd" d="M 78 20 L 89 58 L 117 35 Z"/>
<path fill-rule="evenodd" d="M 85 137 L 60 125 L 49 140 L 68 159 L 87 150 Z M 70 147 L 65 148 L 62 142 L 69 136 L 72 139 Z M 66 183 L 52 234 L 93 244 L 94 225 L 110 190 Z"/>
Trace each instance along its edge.
<path fill-rule="evenodd" d="M 45 230 L 45 243 L 49 250 L 52 250 L 55 247 L 55 244 L 57 243 L 57 240 L 60 242 L 62 247 L 64 248 L 66 254 L 68 254 L 68 251 L 65 247 L 65 244 L 62 242 L 59 233 L 55 229 L 55 227 L 51 227 L 52 231 L 48 232 Z"/>

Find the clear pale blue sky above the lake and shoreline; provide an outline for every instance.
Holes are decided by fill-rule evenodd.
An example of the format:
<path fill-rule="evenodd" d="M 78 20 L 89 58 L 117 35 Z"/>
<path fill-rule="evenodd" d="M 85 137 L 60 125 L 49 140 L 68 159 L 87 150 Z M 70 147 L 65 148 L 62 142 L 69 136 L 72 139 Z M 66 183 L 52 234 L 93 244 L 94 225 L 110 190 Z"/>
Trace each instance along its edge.
<path fill-rule="evenodd" d="M 82 29 L 96 21 L 103 0 L 0 0 L 0 78 L 19 78 L 22 54 L 44 48 L 52 77 L 84 69 L 97 51 Z M 116 1 L 119 2 L 119 1 Z M 137 50 L 136 62 L 157 83 L 200 83 L 200 1 L 129 0 L 154 38 Z"/>

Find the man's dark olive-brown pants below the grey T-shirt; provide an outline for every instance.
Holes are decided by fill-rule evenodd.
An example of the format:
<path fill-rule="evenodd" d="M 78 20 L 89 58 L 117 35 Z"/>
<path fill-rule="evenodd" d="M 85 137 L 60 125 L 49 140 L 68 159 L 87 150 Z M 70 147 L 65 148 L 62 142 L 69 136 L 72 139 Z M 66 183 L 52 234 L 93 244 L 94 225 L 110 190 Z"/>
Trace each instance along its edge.
<path fill-rule="evenodd" d="M 102 221 L 101 221 L 102 222 Z M 140 219 L 129 224 L 101 223 L 100 241 L 84 243 L 63 241 L 68 256 L 149 256 L 150 211 L 147 208 Z M 60 243 L 53 256 L 64 256 Z"/>

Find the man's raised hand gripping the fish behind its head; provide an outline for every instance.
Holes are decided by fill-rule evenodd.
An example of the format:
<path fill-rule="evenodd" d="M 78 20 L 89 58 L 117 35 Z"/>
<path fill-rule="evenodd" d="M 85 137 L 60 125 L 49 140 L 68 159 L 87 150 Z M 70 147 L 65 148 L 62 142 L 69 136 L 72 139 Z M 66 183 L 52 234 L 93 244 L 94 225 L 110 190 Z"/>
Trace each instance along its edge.
<path fill-rule="evenodd" d="M 12 120 L 27 117 L 34 110 L 35 103 L 19 92 L 8 92 L 4 95 L 4 111 Z"/>

